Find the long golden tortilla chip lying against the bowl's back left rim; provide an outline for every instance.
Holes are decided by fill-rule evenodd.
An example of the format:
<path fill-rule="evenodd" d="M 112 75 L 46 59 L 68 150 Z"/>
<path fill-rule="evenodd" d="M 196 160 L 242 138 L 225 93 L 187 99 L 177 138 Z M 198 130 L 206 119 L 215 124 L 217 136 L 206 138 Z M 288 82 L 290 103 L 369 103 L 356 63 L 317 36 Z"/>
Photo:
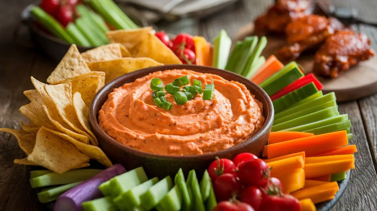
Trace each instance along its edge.
<path fill-rule="evenodd" d="M 106 73 L 105 84 L 136 70 L 141 70 L 147 67 L 154 67 L 163 65 L 150 58 L 121 58 L 111 61 L 93 62 L 89 64 L 92 71 L 103 71 Z"/>

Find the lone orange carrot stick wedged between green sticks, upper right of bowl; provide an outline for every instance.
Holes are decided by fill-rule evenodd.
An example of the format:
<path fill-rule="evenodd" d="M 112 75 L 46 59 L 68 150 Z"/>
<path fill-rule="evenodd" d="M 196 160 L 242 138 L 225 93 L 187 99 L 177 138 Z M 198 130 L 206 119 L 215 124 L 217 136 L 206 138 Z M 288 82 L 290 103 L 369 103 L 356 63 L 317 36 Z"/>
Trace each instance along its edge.
<path fill-rule="evenodd" d="M 274 73 L 279 71 L 283 68 L 284 65 L 276 58 L 276 56 L 271 55 L 265 64 L 259 68 L 254 77 L 251 78 L 251 81 L 259 84 L 262 83 L 264 80 L 268 79 L 268 77 L 272 76 Z"/>

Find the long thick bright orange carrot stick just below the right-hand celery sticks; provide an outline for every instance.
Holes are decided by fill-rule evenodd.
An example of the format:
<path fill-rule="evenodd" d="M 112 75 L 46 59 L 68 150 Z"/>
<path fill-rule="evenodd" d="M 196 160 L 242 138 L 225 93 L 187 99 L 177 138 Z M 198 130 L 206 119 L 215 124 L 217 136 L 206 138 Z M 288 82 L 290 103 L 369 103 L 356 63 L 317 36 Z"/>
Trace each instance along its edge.
<path fill-rule="evenodd" d="M 305 152 L 307 157 L 311 157 L 320 152 L 345 146 L 347 144 L 347 132 L 337 131 L 305 138 L 297 138 L 276 144 L 269 144 L 267 145 L 267 156 L 270 159 L 296 152 Z"/>

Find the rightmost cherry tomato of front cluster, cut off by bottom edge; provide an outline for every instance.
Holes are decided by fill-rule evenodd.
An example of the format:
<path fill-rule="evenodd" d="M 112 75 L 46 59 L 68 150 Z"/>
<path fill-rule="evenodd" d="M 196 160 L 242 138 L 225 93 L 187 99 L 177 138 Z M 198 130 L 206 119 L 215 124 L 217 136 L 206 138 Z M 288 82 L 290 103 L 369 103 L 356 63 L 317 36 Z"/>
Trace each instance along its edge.
<path fill-rule="evenodd" d="M 291 195 L 283 194 L 267 196 L 262 199 L 259 211 L 300 211 L 299 200 Z"/>

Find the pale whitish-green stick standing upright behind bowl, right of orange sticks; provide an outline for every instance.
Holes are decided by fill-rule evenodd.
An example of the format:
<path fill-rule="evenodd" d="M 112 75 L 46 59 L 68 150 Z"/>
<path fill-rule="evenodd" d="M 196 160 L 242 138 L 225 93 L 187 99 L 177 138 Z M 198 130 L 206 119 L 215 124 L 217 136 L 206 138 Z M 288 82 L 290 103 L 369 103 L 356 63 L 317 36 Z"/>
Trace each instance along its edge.
<path fill-rule="evenodd" d="M 213 41 L 213 67 L 223 69 L 227 65 L 232 40 L 224 29 Z"/>

